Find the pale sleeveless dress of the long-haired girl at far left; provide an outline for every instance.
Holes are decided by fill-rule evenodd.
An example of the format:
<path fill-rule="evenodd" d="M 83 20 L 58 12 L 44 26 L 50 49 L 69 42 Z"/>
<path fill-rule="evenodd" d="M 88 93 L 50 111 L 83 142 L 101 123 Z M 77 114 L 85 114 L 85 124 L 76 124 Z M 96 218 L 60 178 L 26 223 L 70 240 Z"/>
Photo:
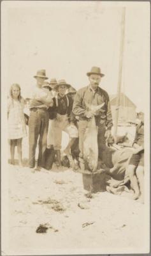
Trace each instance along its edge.
<path fill-rule="evenodd" d="M 16 140 L 27 136 L 25 117 L 24 117 L 24 99 L 8 99 L 8 139 Z"/>

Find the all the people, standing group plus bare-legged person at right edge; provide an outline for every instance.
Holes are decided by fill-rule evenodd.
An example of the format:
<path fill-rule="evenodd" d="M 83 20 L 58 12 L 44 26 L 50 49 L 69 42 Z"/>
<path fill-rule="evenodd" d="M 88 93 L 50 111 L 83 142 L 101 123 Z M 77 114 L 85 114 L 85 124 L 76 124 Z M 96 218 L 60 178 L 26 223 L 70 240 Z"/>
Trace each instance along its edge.
<path fill-rule="evenodd" d="M 64 79 L 47 82 L 45 70 L 39 70 L 34 78 L 36 85 L 31 88 L 29 96 L 29 167 L 36 165 L 36 147 L 39 144 L 38 168 L 45 168 L 46 148 L 53 148 L 57 157 L 57 166 L 61 166 L 62 131 L 69 134 L 69 143 L 64 154 L 69 156 L 71 147 L 79 138 L 80 168 L 85 168 L 83 159 L 83 141 L 85 131 L 92 116 L 95 115 L 97 126 L 97 144 L 99 152 L 106 147 L 106 140 L 111 136 L 113 126 L 110 99 L 108 93 L 99 87 L 104 76 L 101 68 L 92 67 L 87 72 L 89 85 L 76 92 Z M 19 84 L 12 84 L 8 99 L 8 139 L 10 140 L 11 164 L 15 164 L 15 146 L 18 150 L 18 164 L 22 165 L 22 138 L 27 136 L 25 115 L 25 100 L 21 96 Z M 95 113 L 90 106 L 102 107 Z M 134 155 L 129 164 L 129 177 L 134 189 L 135 198 L 143 189 L 140 173 L 143 173 L 143 113 L 138 113 L 141 125 L 136 129 Z M 27 118 L 28 119 L 28 118 Z M 141 166 L 141 167 L 140 167 Z M 137 170 L 137 171 L 136 171 Z M 137 177 L 138 179 L 137 179 Z M 142 180 L 142 179 L 141 179 Z"/>

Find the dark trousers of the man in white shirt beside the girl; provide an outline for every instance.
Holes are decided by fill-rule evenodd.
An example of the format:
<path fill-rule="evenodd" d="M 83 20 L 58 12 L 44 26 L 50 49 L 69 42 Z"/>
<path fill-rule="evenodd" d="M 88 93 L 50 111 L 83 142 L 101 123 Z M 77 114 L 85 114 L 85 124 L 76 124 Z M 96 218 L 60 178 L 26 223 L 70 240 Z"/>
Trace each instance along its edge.
<path fill-rule="evenodd" d="M 39 138 L 38 166 L 45 166 L 45 150 L 48 132 L 47 109 L 33 108 L 29 116 L 29 167 L 35 166 L 36 146 Z"/>

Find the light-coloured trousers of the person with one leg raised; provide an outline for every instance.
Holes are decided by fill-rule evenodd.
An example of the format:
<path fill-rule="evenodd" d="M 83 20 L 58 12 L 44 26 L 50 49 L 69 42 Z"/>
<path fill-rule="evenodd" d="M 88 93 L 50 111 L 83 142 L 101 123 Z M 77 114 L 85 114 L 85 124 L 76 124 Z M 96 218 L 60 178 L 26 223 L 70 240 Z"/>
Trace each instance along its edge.
<path fill-rule="evenodd" d="M 59 114 L 57 114 L 59 115 Z M 67 115 L 59 115 L 60 120 L 52 120 L 51 129 L 54 132 L 54 149 L 61 150 L 62 131 L 69 134 L 69 138 L 78 138 L 78 129 L 70 125 Z"/>

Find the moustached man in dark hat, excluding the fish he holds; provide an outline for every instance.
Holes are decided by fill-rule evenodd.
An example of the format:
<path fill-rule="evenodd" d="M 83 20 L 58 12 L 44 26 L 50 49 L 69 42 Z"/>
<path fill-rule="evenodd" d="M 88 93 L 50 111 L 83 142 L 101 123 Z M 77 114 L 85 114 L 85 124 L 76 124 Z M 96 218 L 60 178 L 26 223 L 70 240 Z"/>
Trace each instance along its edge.
<path fill-rule="evenodd" d="M 92 67 L 90 72 L 87 73 L 87 76 L 89 77 L 89 86 L 78 90 L 73 103 L 73 113 L 79 116 L 79 148 L 82 168 L 84 168 L 84 134 L 90 118 L 92 118 L 92 116 L 94 115 L 94 113 L 90 111 L 89 106 L 99 106 L 104 103 L 104 106 L 95 113 L 96 125 L 98 127 L 97 140 L 99 147 L 99 156 L 101 155 L 101 152 L 106 148 L 105 138 L 110 137 L 111 127 L 113 125 L 108 93 L 99 87 L 101 77 L 103 77 L 104 74 L 101 73 L 101 69 L 99 67 Z"/>

